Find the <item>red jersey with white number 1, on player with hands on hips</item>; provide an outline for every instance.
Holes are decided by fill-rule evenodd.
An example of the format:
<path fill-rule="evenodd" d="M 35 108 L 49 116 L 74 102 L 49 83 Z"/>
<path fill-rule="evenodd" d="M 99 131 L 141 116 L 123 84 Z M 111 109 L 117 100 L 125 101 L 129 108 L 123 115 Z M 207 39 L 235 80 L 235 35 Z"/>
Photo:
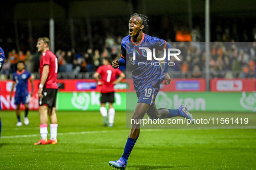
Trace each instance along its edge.
<path fill-rule="evenodd" d="M 116 77 L 119 76 L 122 72 L 120 69 L 113 69 L 111 65 L 102 65 L 96 70 L 101 76 L 100 82 L 101 85 L 101 93 L 110 93 L 114 92 L 113 81 L 116 80 Z"/>

